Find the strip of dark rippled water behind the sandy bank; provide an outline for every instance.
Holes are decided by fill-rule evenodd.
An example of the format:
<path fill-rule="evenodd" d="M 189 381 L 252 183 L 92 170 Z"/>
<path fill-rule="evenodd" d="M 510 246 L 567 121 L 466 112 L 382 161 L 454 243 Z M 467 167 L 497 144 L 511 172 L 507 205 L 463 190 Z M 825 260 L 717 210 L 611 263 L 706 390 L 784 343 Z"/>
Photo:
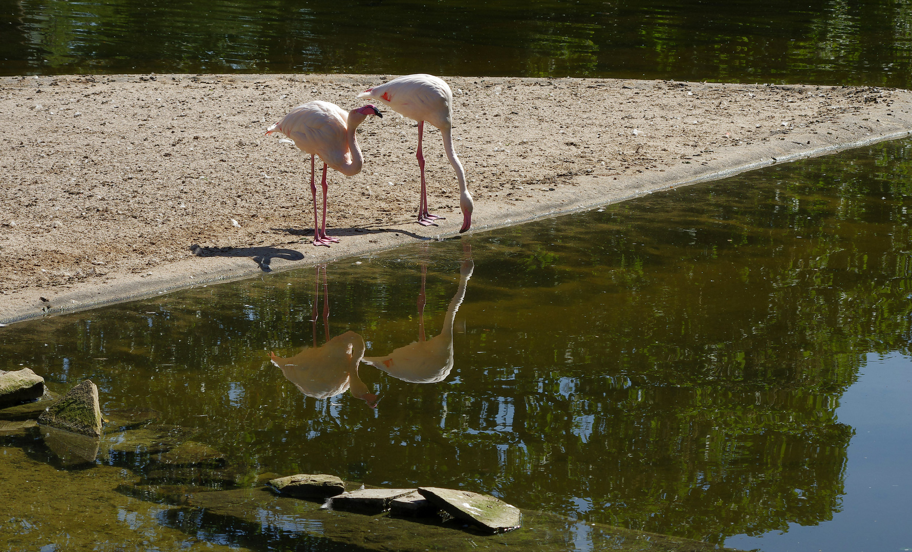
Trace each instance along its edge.
<path fill-rule="evenodd" d="M 429 72 L 909 87 L 896 0 L 0 3 L 0 75 Z"/>

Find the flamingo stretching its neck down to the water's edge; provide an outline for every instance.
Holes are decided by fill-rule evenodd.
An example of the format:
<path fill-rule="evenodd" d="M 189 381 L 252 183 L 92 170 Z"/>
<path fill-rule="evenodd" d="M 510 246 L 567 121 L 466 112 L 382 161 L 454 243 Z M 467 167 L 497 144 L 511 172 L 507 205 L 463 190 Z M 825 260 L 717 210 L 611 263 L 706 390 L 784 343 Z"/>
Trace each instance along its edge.
<path fill-rule="evenodd" d="M 443 150 L 450 159 L 450 164 L 456 170 L 456 179 L 459 180 L 459 204 L 462 210 L 462 228 L 460 232 L 469 230 L 472 226 L 472 194 L 465 183 L 465 170 L 456 151 L 453 149 L 451 137 L 453 118 L 453 94 L 447 83 L 440 77 L 432 75 L 407 75 L 390 80 L 378 87 L 368 88 L 358 94 L 359 98 L 368 97 L 382 102 L 403 116 L 418 121 L 418 166 L 421 169 L 421 200 L 418 208 L 418 222 L 422 226 L 437 226 L 434 220 L 442 219 L 428 211 L 428 192 L 424 179 L 424 155 L 421 153 L 421 138 L 424 134 L 424 121 L 440 128 L 443 137 Z"/>

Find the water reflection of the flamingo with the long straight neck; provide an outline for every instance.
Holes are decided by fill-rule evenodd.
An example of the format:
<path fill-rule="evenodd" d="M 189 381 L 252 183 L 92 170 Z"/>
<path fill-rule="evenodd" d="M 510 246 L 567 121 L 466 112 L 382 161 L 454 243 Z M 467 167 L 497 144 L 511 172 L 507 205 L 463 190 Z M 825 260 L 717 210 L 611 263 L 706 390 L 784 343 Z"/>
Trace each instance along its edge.
<path fill-rule="evenodd" d="M 475 264 L 472 261 L 472 246 L 467 245 L 463 251 L 465 259 L 460 268 L 459 290 L 453 296 L 447 308 L 446 318 L 440 335 L 425 339 L 424 305 L 425 281 L 428 275 L 427 263 L 421 264 L 421 291 L 418 296 L 418 341 L 405 347 L 399 347 L 387 356 L 370 356 L 364 363 L 371 364 L 394 378 L 409 383 L 439 383 L 447 379 L 453 367 L 453 322 L 462 299 L 465 297 L 466 285 L 472 278 Z"/>

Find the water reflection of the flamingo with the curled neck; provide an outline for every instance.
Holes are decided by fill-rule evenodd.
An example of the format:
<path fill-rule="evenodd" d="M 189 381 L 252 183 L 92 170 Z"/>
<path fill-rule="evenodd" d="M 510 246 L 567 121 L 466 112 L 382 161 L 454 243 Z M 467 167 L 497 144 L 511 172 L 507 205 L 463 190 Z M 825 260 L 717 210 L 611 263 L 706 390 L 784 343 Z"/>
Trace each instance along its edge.
<path fill-rule="evenodd" d="M 320 272 L 323 272 L 323 328 L 326 342 L 316 346 L 316 304 L 320 295 Z M 353 397 L 363 400 L 371 408 L 377 408 L 379 397 L 368 392 L 368 386 L 358 378 L 358 364 L 364 356 L 364 338 L 356 332 L 345 332 L 329 339 L 329 301 L 326 284 L 326 267 L 316 267 L 314 290 L 314 346 L 290 358 L 269 353 L 272 362 L 282 369 L 285 378 L 308 397 L 326 399 L 347 391 Z"/>

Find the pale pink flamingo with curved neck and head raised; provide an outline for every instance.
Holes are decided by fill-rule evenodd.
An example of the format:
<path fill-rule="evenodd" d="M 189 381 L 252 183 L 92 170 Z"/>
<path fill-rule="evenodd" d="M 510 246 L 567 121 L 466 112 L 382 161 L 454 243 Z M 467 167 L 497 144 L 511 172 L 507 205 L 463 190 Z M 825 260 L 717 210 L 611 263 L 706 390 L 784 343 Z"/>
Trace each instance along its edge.
<path fill-rule="evenodd" d="M 338 243 L 337 238 L 326 235 L 326 166 L 332 167 L 347 177 L 361 172 L 364 158 L 358 148 L 355 129 L 368 115 L 383 118 L 377 107 L 367 105 L 351 111 L 344 111 L 336 104 L 312 101 L 295 107 L 275 125 L 266 130 L 266 135 L 281 132 L 295 142 L 295 146 L 310 154 L 310 193 L 314 198 L 314 245 Z M 314 183 L 315 156 L 323 161 L 323 226 L 316 221 L 316 185 Z"/>

